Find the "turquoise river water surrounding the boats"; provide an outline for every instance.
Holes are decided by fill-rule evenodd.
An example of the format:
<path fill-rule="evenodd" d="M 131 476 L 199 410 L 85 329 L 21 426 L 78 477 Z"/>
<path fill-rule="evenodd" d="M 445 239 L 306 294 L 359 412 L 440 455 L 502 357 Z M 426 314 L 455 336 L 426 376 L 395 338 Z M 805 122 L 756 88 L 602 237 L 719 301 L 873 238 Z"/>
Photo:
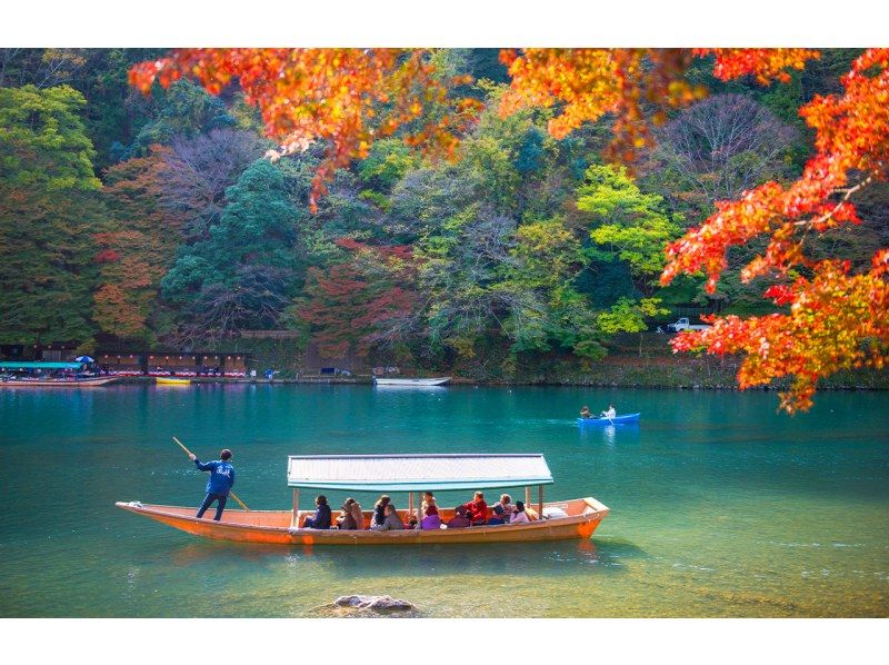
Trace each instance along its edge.
<path fill-rule="evenodd" d="M 609 401 L 641 424 L 576 426 L 581 405 Z M 889 394 L 820 394 L 792 418 L 776 405 L 581 388 L 0 389 L 0 616 L 316 616 L 351 593 L 432 617 L 889 615 Z M 556 479 L 548 499 L 595 496 L 611 514 L 587 542 L 204 540 L 113 505 L 200 500 L 206 476 L 173 435 L 201 458 L 232 448 L 251 508 L 289 507 L 288 454 L 532 451 Z"/>

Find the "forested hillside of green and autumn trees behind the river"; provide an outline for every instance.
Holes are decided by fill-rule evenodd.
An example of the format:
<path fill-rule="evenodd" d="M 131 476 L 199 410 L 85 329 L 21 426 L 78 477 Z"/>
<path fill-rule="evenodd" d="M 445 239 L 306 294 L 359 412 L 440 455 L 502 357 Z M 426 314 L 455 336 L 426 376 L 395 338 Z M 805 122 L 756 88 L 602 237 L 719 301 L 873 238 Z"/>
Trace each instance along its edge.
<path fill-rule="evenodd" d="M 143 96 L 128 71 L 163 52 L 0 54 L 0 343 L 200 348 L 288 329 L 327 357 L 497 358 L 508 374 L 540 356 L 589 366 L 615 335 L 680 311 L 761 314 L 762 284 L 739 272 L 765 241 L 729 250 L 716 292 L 705 277 L 660 286 L 665 246 L 716 201 L 797 178 L 813 149 L 798 109 L 835 92 L 859 54 L 826 50 L 770 86 L 696 61 L 688 79 L 709 93 L 667 113 L 623 166 L 603 159 L 613 117 L 553 138 L 552 108 L 498 111 L 497 50 L 434 51 L 424 75 L 471 103 L 457 121 L 443 99 L 411 109 L 336 163 L 316 205 L 329 145 L 269 156 L 278 146 L 237 81 Z M 413 132 L 437 122 L 459 143 L 414 150 Z M 816 252 L 868 264 L 889 240 L 886 202 L 872 188 L 863 224 Z"/>

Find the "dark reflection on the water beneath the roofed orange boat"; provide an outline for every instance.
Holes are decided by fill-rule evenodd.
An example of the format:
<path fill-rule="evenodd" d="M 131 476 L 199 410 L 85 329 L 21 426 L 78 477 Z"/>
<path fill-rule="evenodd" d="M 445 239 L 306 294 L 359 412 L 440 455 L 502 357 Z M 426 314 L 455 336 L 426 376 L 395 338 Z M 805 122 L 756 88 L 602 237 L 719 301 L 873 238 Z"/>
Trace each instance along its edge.
<path fill-rule="evenodd" d="M 261 566 L 287 564 L 296 574 L 302 568 L 349 572 L 360 577 L 391 577 L 393 573 L 424 576 L 493 575 L 505 562 L 517 573 L 560 576 L 621 574 L 629 560 L 649 555 L 628 540 L 556 540 L 550 543 L 468 543 L 461 545 L 281 547 L 278 545 L 200 542 L 168 550 L 177 566 Z"/>

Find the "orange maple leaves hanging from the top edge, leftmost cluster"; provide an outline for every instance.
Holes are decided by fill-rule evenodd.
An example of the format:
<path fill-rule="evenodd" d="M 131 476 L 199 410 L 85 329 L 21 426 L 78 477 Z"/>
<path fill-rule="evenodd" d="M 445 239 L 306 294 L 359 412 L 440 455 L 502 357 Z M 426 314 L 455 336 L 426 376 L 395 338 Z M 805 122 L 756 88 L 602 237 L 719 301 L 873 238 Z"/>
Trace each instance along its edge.
<path fill-rule="evenodd" d="M 459 100 L 453 112 L 423 118 L 424 109 L 448 105 L 450 87 L 466 81 L 438 77 L 423 51 L 401 49 L 179 49 L 137 64 L 130 81 L 148 92 L 154 81 L 166 88 L 182 76 L 212 93 L 237 81 L 261 109 L 281 153 L 327 142 L 312 206 L 337 168 L 367 157 L 373 140 L 400 127 L 410 126 L 406 140 L 412 145 L 452 151 L 478 107 Z"/>

